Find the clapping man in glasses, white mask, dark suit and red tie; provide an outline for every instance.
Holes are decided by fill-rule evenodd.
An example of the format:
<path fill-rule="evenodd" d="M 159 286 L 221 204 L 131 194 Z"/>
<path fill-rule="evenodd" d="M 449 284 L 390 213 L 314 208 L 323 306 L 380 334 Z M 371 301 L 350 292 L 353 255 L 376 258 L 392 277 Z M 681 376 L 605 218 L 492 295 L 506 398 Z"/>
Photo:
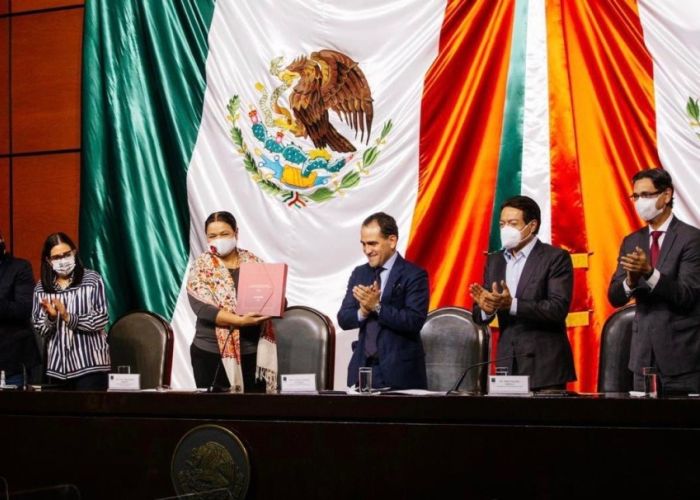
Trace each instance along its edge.
<path fill-rule="evenodd" d="M 608 299 L 637 302 L 629 369 L 635 390 L 642 368 L 655 367 L 665 393 L 700 392 L 700 230 L 673 216 L 668 172 L 648 169 L 632 178 L 635 208 L 648 223 L 622 241 Z"/>

